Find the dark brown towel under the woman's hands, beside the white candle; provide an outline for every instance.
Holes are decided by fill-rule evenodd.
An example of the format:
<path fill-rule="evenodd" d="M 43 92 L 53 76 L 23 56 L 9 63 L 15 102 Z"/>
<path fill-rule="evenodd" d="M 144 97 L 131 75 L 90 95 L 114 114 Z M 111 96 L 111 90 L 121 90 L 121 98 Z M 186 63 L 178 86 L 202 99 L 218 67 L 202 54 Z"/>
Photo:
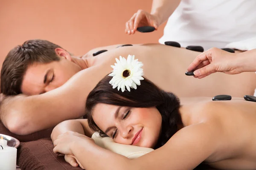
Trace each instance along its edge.
<path fill-rule="evenodd" d="M 21 142 L 17 150 L 17 164 L 21 170 L 82 170 L 72 167 L 64 156 L 53 153 L 50 138 Z"/>

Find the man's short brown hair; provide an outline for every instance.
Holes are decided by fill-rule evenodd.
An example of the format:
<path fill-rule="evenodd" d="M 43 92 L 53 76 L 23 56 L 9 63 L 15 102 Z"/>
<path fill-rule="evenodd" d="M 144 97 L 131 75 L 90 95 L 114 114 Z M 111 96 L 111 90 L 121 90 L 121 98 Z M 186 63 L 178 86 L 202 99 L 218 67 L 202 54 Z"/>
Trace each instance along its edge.
<path fill-rule="evenodd" d="M 1 70 L 1 91 L 5 95 L 21 94 L 23 76 L 34 62 L 49 63 L 60 58 L 55 48 L 61 48 L 47 40 L 28 40 L 17 45 L 6 56 Z"/>

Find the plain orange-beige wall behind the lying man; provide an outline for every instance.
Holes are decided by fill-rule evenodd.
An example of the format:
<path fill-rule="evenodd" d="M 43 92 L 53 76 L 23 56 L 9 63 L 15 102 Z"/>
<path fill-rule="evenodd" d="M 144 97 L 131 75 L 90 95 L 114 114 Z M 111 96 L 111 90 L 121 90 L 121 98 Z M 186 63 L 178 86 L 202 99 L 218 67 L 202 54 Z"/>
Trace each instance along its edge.
<path fill-rule="evenodd" d="M 10 49 L 44 39 L 75 55 L 118 43 L 158 43 L 158 31 L 128 36 L 125 22 L 152 0 L 0 0 L 0 67 Z"/>

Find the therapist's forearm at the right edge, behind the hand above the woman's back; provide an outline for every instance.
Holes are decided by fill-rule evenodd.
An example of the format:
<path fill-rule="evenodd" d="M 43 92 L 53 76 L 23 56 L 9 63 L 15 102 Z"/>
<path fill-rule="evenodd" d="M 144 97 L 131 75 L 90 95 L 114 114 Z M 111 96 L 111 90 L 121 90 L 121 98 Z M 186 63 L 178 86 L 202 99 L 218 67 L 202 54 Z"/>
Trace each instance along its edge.
<path fill-rule="evenodd" d="M 238 54 L 236 64 L 242 72 L 256 71 L 256 49 Z"/>

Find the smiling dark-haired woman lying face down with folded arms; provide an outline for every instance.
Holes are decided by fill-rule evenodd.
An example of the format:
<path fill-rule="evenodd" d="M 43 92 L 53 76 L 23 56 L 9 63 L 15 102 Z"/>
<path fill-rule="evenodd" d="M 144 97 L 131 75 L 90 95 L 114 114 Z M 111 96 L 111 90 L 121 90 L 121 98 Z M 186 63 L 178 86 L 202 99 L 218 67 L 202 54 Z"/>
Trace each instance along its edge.
<path fill-rule="evenodd" d="M 121 77 L 126 74 L 136 73 L 123 71 Z M 138 85 L 130 83 L 133 88 L 113 79 L 106 76 L 88 95 L 87 119 L 64 121 L 52 132 L 54 152 L 65 154 L 73 166 L 77 162 L 87 170 L 189 170 L 204 162 L 224 170 L 256 169 L 255 102 L 180 105 L 174 94 L 146 78 L 132 79 Z M 128 159 L 97 146 L 88 127 L 116 143 L 156 150 Z"/>

